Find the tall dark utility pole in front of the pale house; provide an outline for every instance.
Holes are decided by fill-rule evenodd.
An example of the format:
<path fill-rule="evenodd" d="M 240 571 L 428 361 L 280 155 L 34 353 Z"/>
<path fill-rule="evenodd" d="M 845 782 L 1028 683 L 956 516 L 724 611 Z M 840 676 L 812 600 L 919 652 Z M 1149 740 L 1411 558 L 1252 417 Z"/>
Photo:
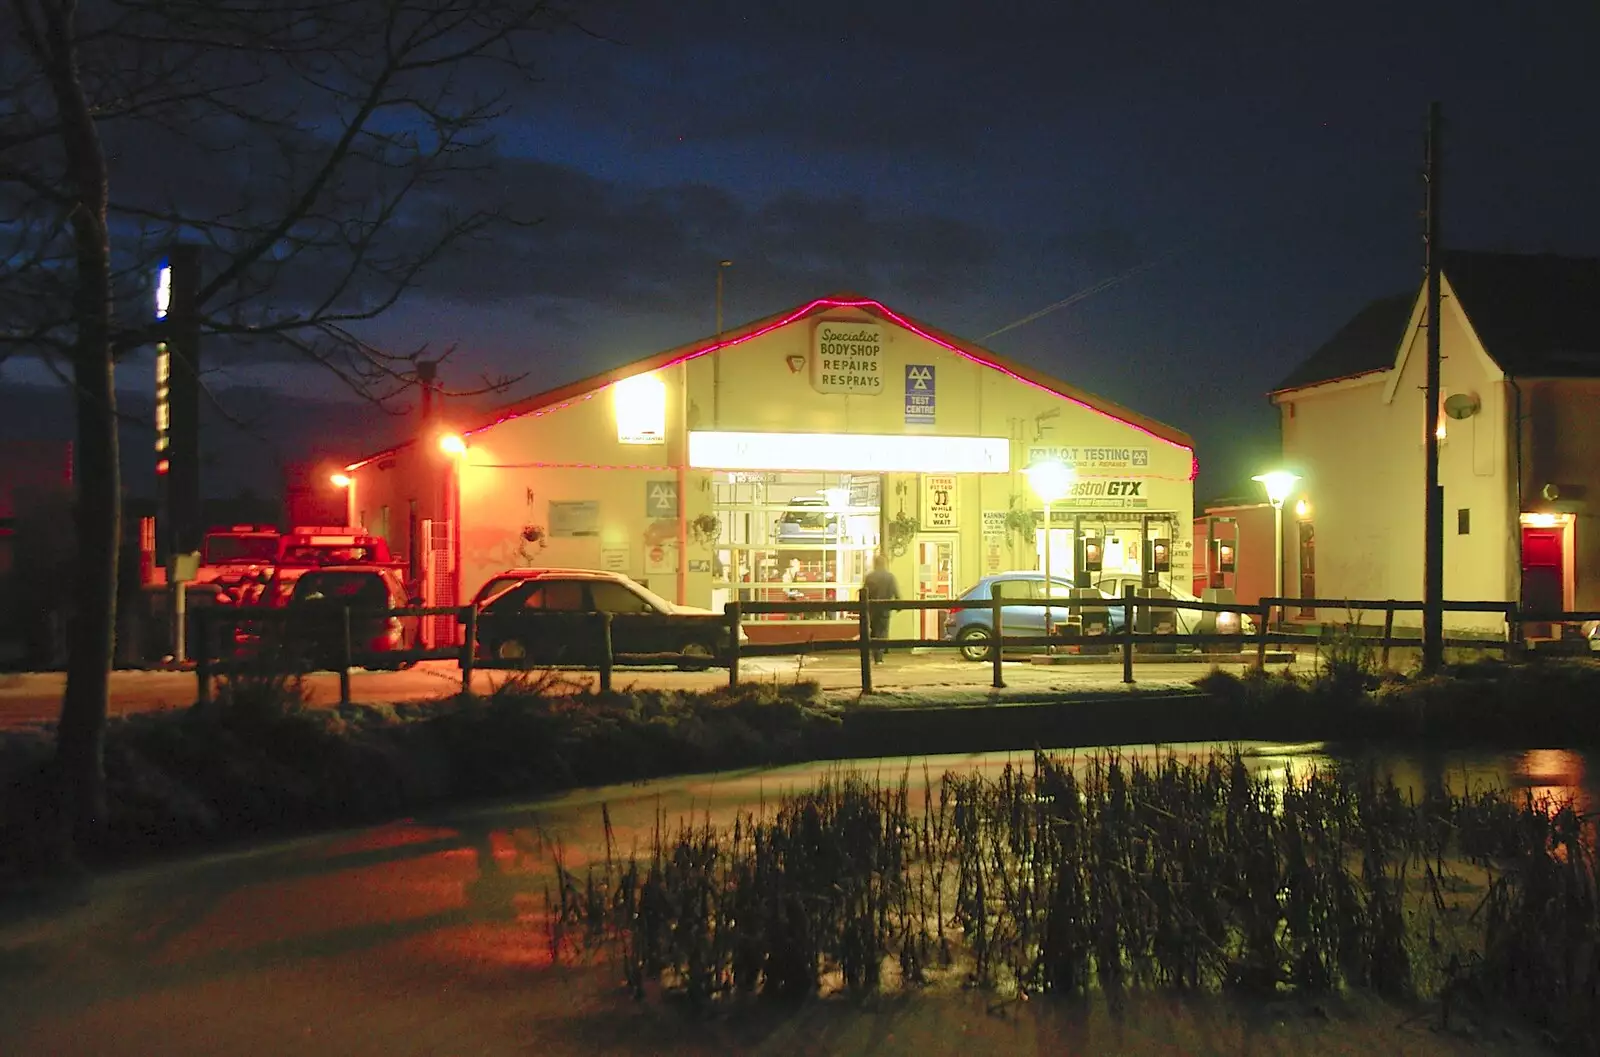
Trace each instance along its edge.
<path fill-rule="evenodd" d="M 1427 451 L 1427 502 L 1422 544 L 1422 670 L 1437 672 L 1445 660 L 1445 489 L 1438 483 L 1440 413 L 1440 107 L 1427 107 L 1427 214 L 1422 233 L 1427 265 L 1427 405 L 1422 413 Z"/>

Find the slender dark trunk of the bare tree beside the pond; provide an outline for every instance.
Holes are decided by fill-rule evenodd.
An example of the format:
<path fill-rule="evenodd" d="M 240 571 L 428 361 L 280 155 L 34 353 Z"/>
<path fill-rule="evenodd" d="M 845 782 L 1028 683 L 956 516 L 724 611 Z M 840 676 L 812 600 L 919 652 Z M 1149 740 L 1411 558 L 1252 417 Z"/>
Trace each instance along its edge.
<path fill-rule="evenodd" d="M 122 473 L 117 453 L 117 387 L 110 352 L 110 238 L 107 177 L 99 131 L 78 78 L 74 5 L 42 5 L 46 70 L 61 120 L 72 197 L 77 264 L 77 337 L 72 381 L 77 405 L 77 568 L 67 630 L 67 689 L 56 728 L 59 822 L 85 836 L 106 820 L 106 712 L 117 627 L 117 552 L 122 539 Z"/>

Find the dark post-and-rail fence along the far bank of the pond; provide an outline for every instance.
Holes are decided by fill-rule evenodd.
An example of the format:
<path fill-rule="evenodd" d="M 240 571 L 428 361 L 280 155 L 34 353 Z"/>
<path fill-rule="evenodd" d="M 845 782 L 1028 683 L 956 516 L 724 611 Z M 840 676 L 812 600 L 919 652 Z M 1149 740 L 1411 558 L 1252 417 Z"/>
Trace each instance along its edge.
<path fill-rule="evenodd" d="M 726 635 L 726 648 L 720 654 L 690 656 L 682 652 L 629 652 L 618 651 L 613 641 L 613 616 L 610 612 L 574 612 L 565 617 L 566 640 L 576 643 L 568 659 L 528 660 L 501 659 L 482 656 L 478 649 L 478 611 L 474 606 L 427 606 L 406 609 L 339 609 L 339 628 L 342 638 L 330 648 L 322 643 L 314 652 L 318 659 L 333 660 L 331 670 L 339 675 L 339 700 L 350 702 L 350 668 L 368 667 L 400 667 L 419 660 L 454 660 L 461 670 L 462 689 L 470 689 L 475 670 L 528 670 L 546 667 L 571 667 L 598 672 L 602 692 L 610 692 L 613 686 L 613 670 L 619 665 L 661 665 L 728 670 L 728 686 L 739 684 L 741 660 L 747 657 L 781 657 L 821 652 L 856 652 L 861 662 L 861 689 L 872 692 L 872 659 L 877 651 L 890 649 L 955 649 L 986 651 L 986 662 L 992 668 L 992 686 L 1005 688 L 1003 657 L 1018 649 L 1035 649 L 1045 652 L 1099 652 L 1118 656 L 1122 660 L 1122 676 L 1125 683 L 1134 681 L 1134 656 L 1141 648 L 1160 648 L 1166 654 L 1174 646 L 1195 646 L 1202 651 L 1232 648 L 1242 660 L 1251 657 L 1258 667 L 1266 665 L 1270 646 L 1318 646 L 1326 643 L 1325 635 L 1285 630 L 1282 624 L 1274 627 L 1274 614 L 1282 620 L 1282 612 L 1290 608 L 1301 609 L 1344 609 L 1349 612 L 1381 611 L 1384 614 L 1382 633 L 1360 636 L 1360 641 L 1382 651 L 1382 662 L 1389 662 L 1392 648 L 1416 648 L 1421 640 L 1395 635 L 1397 612 L 1419 612 L 1424 604 L 1411 600 L 1347 600 L 1347 598 L 1262 598 L 1254 606 L 1242 606 L 1226 601 L 1189 601 L 1178 598 L 1162 598 L 1138 595 L 1128 587 L 1120 598 L 1083 600 L 1083 598 L 994 598 L 986 601 L 963 603 L 955 598 L 885 598 L 869 600 L 816 600 L 816 601 L 730 601 L 722 616 L 682 616 L 672 617 L 678 625 L 704 622 L 715 625 Z M 1005 628 L 1005 609 L 1046 609 L 1051 614 L 1064 614 L 1064 620 L 1051 622 L 1045 635 L 1008 635 Z M 1574 612 L 1520 612 L 1515 603 L 1504 601 L 1446 601 L 1446 612 L 1498 612 L 1506 620 L 1506 633 L 1499 638 L 1480 636 L 1446 636 L 1445 644 L 1453 648 L 1506 649 L 1517 651 L 1523 644 L 1523 628 L 1530 624 L 1578 624 L 1584 620 L 1600 620 L 1600 611 Z M 872 633 L 874 617 L 885 617 L 894 612 L 952 611 L 952 609 L 987 609 L 989 627 L 979 641 L 962 641 L 957 638 L 877 638 Z M 1122 617 L 1117 627 L 1110 612 Z M 1139 620 L 1141 611 L 1147 619 Z M 1197 614 L 1237 614 L 1240 617 L 1238 632 L 1182 632 L 1176 620 L 1176 612 Z M 851 638 L 810 638 L 798 643 L 741 643 L 739 632 L 746 617 L 786 614 L 853 614 L 854 636 Z M 1155 627 L 1157 617 L 1170 614 L 1170 632 L 1141 630 L 1141 624 Z M 195 617 L 200 625 L 200 649 L 197 652 L 195 673 L 198 678 L 198 700 L 205 702 L 211 694 L 211 681 L 218 676 L 240 672 L 306 672 L 306 662 L 296 660 L 294 651 L 277 651 L 277 644 L 293 643 L 288 633 L 290 622 L 301 616 L 293 609 L 203 609 Z M 398 617 L 400 620 L 421 620 L 426 617 L 450 616 L 461 628 L 459 641 L 408 649 L 371 649 L 363 648 L 352 638 L 352 625 L 360 620 L 382 620 Z M 549 619 L 552 614 L 546 614 Z M 1243 632 L 1243 616 L 1254 620 L 1251 633 Z M 237 643 L 240 625 L 256 625 L 258 644 L 264 648 L 254 651 Z M 1357 622 L 1358 624 L 1358 622 Z M 274 635 L 262 636 L 259 628 L 270 628 Z M 222 632 L 227 632 L 224 636 Z M 230 644 L 224 649 L 224 643 Z M 322 665 L 317 670 L 325 670 Z"/>

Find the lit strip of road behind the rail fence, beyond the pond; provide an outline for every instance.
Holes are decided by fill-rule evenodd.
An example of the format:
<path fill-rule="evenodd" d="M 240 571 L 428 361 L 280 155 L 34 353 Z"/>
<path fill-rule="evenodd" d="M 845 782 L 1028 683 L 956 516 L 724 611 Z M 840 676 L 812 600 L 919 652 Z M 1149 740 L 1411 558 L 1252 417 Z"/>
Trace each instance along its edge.
<path fill-rule="evenodd" d="M 1227 665 L 1242 670 L 1246 665 Z M 1312 662 L 1301 660 L 1309 670 Z M 1189 688 L 1210 668 L 1203 662 L 1138 659 L 1134 665 L 1139 689 Z M 853 692 L 861 688 L 861 665 L 856 654 L 818 654 L 808 657 L 752 657 L 739 665 L 742 681 L 816 680 L 827 691 Z M 506 672 L 477 672 L 472 688 L 488 692 L 507 678 Z M 595 686 L 592 672 L 563 672 L 562 678 L 578 686 Z M 874 667 L 874 688 L 888 692 L 915 691 L 928 699 L 987 691 L 992 670 L 987 664 L 970 664 L 949 652 L 890 654 Z M 1027 660 L 1005 662 L 1005 683 L 1013 692 L 1082 692 L 1086 689 L 1120 689 L 1122 664 L 1106 660 L 1094 665 L 1037 665 Z M 110 681 L 112 715 L 187 708 L 195 700 L 192 672 L 114 672 Z M 715 689 L 728 684 L 728 672 L 677 672 L 672 668 L 618 668 L 614 686 L 661 689 Z M 0 728 L 30 726 L 54 721 L 61 708 L 66 676 L 54 672 L 0 675 Z M 350 673 L 350 697 L 365 704 L 397 704 L 429 700 L 461 689 L 461 670 L 453 662 L 426 662 L 406 672 Z M 339 678 L 317 673 L 307 678 L 310 704 L 330 705 L 339 700 Z"/>

